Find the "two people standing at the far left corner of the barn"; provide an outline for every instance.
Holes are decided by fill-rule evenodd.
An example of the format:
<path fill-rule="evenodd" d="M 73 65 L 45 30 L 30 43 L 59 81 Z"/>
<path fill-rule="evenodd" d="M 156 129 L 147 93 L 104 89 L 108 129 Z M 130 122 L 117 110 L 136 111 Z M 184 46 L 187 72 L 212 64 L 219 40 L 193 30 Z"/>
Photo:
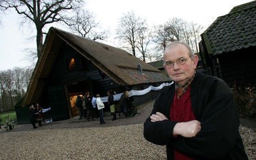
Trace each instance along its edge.
<path fill-rule="evenodd" d="M 38 128 L 36 127 L 36 123 L 38 123 L 38 126 L 41 127 L 42 126 L 42 122 L 44 121 L 44 118 L 42 117 L 42 107 L 36 103 L 36 105 L 34 106 L 34 104 L 31 104 L 29 107 L 29 111 L 30 111 L 30 123 L 33 125 L 33 128 Z"/>

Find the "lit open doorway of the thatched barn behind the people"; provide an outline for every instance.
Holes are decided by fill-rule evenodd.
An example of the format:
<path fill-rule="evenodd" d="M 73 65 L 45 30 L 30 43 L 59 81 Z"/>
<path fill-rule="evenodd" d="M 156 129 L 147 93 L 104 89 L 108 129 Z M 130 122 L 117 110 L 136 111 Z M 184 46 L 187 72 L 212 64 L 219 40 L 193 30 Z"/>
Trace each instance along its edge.
<path fill-rule="evenodd" d="M 76 99 L 78 96 L 83 96 L 86 93 L 92 93 L 92 83 L 91 80 L 83 80 L 66 85 L 69 98 L 69 110 L 70 117 L 73 118 L 79 115 L 78 108 L 76 106 Z"/>

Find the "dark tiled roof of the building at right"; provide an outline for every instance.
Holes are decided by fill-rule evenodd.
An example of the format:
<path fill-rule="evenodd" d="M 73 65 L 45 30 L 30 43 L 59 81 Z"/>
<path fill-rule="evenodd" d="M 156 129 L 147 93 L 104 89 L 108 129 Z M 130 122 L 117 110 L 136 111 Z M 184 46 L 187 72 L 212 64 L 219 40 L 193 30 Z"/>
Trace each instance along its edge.
<path fill-rule="evenodd" d="M 234 7 L 218 17 L 202 34 L 209 54 L 221 54 L 256 45 L 256 1 Z"/>

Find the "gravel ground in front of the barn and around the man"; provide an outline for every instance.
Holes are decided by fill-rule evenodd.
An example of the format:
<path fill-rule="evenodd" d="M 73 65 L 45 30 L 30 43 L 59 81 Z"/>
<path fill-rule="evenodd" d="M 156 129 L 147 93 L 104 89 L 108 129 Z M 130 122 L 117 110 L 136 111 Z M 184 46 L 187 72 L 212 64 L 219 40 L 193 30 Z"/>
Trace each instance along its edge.
<path fill-rule="evenodd" d="M 106 125 L 75 118 L 38 129 L 18 125 L 11 132 L 1 130 L 0 159 L 166 159 L 165 146 L 143 138 L 142 123 L 152 103 L 132 118 L 117 116 L 118 120 L 111 121 L 112 117 L 106 116 Z M 241 126 L 240 133 L 249 159 L 256 159 L 255 128 Z"/>

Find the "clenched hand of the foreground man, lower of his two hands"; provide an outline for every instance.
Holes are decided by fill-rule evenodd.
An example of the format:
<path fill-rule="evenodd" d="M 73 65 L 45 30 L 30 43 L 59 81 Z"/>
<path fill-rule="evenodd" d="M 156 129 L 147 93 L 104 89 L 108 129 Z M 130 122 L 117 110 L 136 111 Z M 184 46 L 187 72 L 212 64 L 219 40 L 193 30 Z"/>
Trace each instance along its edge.
<path fill-rule="evenodd" d="M 177 123 L 174 126 L 173 135 L 181 135 L 185 138 L 191 138 L 196 136 L 197 133 L 201 130 L 201 123 L 197 120 Z"/>

